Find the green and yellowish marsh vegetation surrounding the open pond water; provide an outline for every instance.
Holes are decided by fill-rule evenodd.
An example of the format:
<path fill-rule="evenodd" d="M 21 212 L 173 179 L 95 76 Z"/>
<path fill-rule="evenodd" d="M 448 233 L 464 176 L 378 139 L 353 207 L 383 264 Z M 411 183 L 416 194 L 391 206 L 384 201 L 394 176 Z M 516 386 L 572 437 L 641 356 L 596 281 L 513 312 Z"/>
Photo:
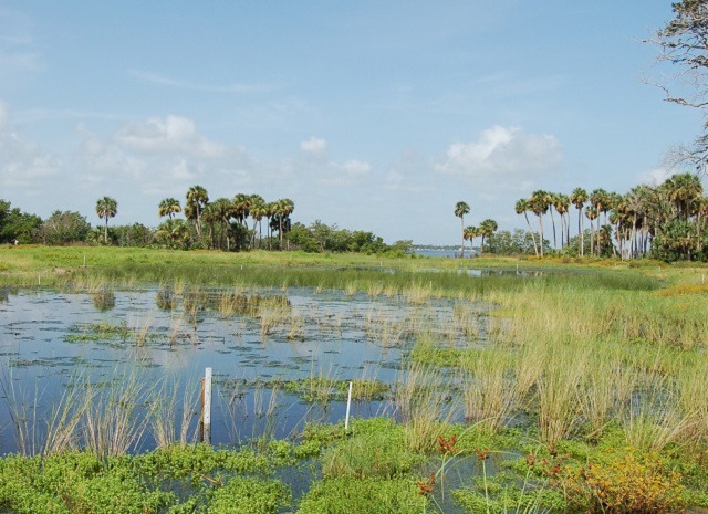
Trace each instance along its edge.
<path fill-rule="evenodd" d="M 454 504 L 470 513 L 668 513 L 708 506 L 705 268 L 114 248 L 0 252 L 8 255 L 8 284 L 34 285 L 39 274 L 42 285 L 100 298 L 97 308 L 118 289 L 159 284 L 159 308 L 186 321 L 204 311 L 244 315 L 264 335 L 304 337 L 308 324 L 317 323 L 295 318 L 290 287 L 337 290 L 342 298 L 362 295 L 374 305 L 386 297 L 413 313 L 361 315 L 366 337 L 407 356 L 393 381 L 354 380 L 354 400 L 382 406 L 381 416 L 353 419 L 348 430 L 300 424 L 289 440 L 266 431 L 235 438 L 241 445 L 230 449 L 189 444 L 178 387 L 131 376 L 67 388 L 52 417 L 37 420 L 33 403 L 3 380 L 24 457 L 0 459 L 7 476 L 0 510 L 418 513 Z M 491 273 L 468 275 L 471 263 Z M 179 352 L 178 337 L 158 337 L 148 323 L 72 332 L 75 344 L 169 344 Z M 279 394 L 327 408 L 348 392 L 348 380 L 314 370 L 306 379 L 217 385 L 225 408 L 254 390 L 261 405 L 253 410 L 268 423 L 277 422 Z M 147 436 L 157 449 L 131 454 Z M 290 473 L 311 483 L 291 491 Z M 118 484 L 123 496 L 114 493 Z"/>

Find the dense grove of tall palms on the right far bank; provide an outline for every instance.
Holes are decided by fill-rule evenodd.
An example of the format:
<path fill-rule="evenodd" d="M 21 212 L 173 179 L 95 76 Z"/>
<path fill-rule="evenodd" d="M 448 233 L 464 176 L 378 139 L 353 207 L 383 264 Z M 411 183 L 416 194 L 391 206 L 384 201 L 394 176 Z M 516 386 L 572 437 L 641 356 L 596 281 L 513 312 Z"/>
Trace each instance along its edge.
<path fill-rule="evenodd" d="M 577 231 L 571 238 L 573 209 Z M 570 195 L 538 190 L 520 199 L 516 212 L 524 216 L 538 256 L 544 255 L 541 242 L 545 241 L 543 218 L 548 214 L 551 251 L 556 253 L 623 260 L 649 256 L 667 262 L 708 260 L 708 199 L 694 174 L 676 174 L 658 186 L 641 185 L 624 195 L 604 189 L 589 193 L 583 188 Z M 538 232 L 531 229 L 529 214 L 537 217 Z"/>

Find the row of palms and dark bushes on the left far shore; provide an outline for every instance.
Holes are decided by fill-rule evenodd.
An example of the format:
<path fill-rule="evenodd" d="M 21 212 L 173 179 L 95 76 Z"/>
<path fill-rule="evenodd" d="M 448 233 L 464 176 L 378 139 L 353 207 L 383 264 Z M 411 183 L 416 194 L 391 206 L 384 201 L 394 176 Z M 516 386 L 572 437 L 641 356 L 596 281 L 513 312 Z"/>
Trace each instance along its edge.
<path fill-rule="evenodd" d="M 165 198 L 157 206 L 163 221 L 156 228 L 142 223 L 110 224 L 118 214 L 111 197 L 96 201 L 102 227 L 93 228 L 86 217 L 74 211 L 54 211 L 46 220 L 12 208 L 0 200 L 0 241 L 65 245 L 75 243 L 170 249 L 303 250 L 306 252 L 364 252 L 404 254 L 412 241 L 394 245 L 365 231 L 340 230 L 315 221 L 310 227 L 292 222 L 295 204 L 284 198 L 267 202 L 260 195 L 238 193 L 210 200 L 201 186 L 190 187 L 183 203 Z M 184 214 L 184 218 L 179 218 Z M 264 225 L 264 227 L 263 227 Z"/>

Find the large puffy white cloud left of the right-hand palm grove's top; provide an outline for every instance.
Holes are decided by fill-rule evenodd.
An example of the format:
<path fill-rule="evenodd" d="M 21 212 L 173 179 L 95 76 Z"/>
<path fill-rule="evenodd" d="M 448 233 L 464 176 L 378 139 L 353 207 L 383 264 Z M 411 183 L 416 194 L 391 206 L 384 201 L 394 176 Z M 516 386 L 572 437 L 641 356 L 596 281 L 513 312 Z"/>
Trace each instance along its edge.
<path fill-rule="evenodd" d="M 454 143 L 437 171 L 487 180 L 516 179 L 541 175 L 559 167 L 563 153 L 558 139 L 548 134 L 528 134 L 518 127 L 493 126 L 477 141 Z"/>

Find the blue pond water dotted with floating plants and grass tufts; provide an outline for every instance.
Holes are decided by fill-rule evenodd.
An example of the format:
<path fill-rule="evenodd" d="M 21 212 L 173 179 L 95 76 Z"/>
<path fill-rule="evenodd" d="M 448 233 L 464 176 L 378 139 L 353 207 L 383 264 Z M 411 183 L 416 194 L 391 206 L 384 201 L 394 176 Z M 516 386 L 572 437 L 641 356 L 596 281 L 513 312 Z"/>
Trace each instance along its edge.
<path fill-rule="evenodd" d="M 134 387 L 136 419 L 159 403 L 183 439 L 194 441 L 207 367 L 215 444 L 287 438 L 305 421 L 337 422 L 350 380 L 360 385 L 353 417 L 396 417 L 392 388 L 405 381 L 415 342 L 481 346 L 490 310 L 425 291 L 176 284 L 1 293 L 0 453 L 19 450 L 22 422 L 30 438 L 41 439 L 46 428 L 37 420 L 51 418 L 66 398 L 77 401 L 67 391 L 88 387 L 94 399 Z M 144 430 L 131 451 L 155 444 Z"/>

